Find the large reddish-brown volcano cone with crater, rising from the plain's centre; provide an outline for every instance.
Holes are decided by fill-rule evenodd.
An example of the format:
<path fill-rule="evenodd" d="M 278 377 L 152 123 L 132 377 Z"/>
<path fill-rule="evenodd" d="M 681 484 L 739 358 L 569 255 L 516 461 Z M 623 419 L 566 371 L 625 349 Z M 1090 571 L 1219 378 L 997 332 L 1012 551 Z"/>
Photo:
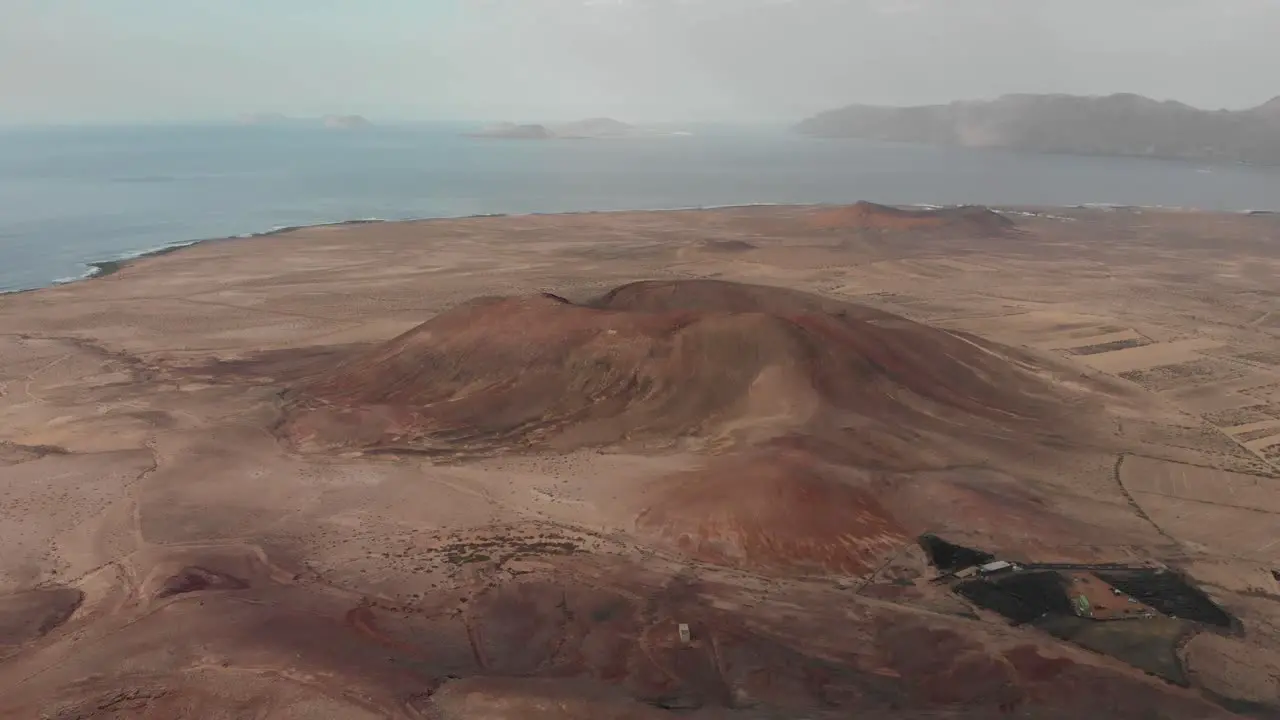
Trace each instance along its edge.
<path fill-rule="evenodd" d="M 1056 407 L 1047 383 L 961 336 L 782 288 L 680 281 L 586 305 L 454 307 L 294 386 L 282 429 L 302 448 L 460 456 L 829 436 L 892 465 L 922 437 L 1024 436 Z"/>

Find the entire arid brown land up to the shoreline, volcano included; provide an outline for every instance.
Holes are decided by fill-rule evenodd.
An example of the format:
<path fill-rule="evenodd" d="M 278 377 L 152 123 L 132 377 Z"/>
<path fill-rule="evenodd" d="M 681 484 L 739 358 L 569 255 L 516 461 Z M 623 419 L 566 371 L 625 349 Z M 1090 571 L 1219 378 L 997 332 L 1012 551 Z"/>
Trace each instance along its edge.
<path fill-rule="evenodd" d="M 1277 278 L 1277 215 L 856 205 L 0 297 L 0 716 L 1275 717 Z M 1009 621 L 925 534 L 1096 623 Z"/>

